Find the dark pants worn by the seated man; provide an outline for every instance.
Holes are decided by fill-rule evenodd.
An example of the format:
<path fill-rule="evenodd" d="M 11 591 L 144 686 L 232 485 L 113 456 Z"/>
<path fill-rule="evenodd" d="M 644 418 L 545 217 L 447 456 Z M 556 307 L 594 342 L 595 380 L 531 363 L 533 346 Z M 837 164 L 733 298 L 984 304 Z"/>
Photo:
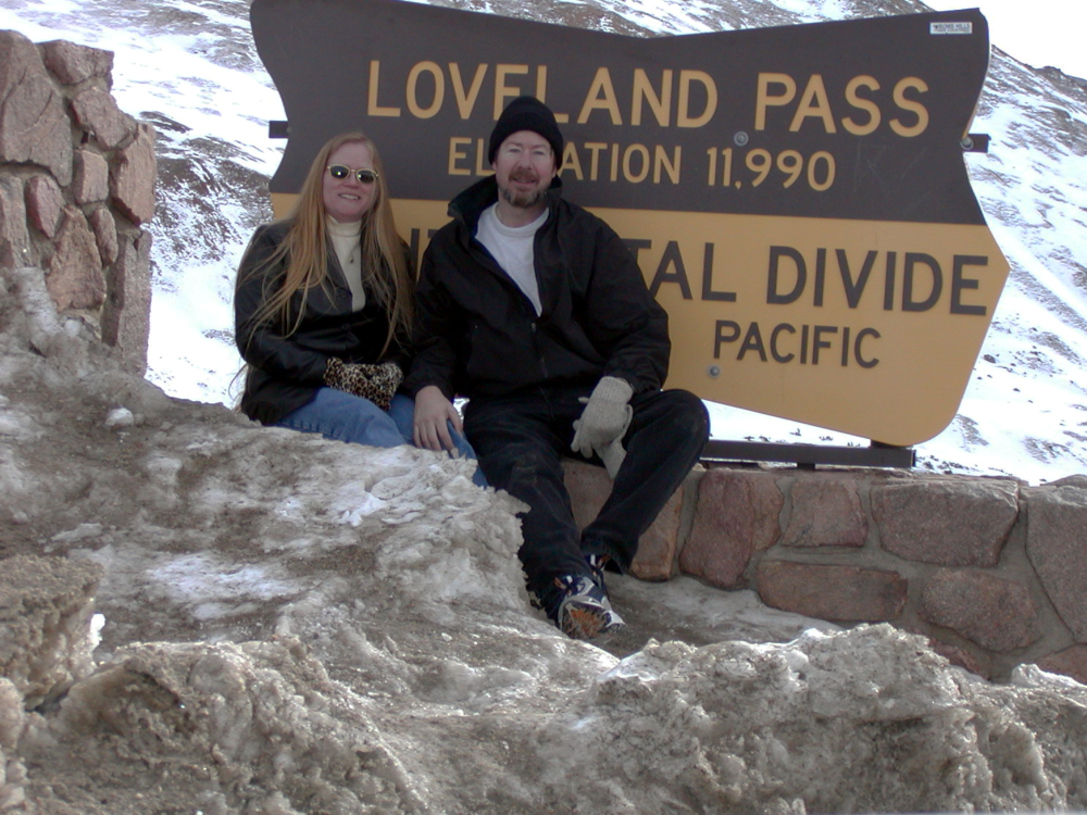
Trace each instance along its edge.
<path fill-rule="evenodd" d="M 570 449 L 585 387 L 545 387 L 510 397 L 474 397 L 464 432 L 487 481 L 532 509 L 523 516 L 518 551 L 528 588 L 540 591 L 560 575 L 589 575 L 587 554 L 608 554 L 626 572 L 638 539 L 698 462 L 710 419 L 685 390 L 647 391 L 630 400 L 634 418 L 623 439 L 626 460 L 596 521 L 577 534 L 561 460 Z M 594 459 L 600 463 L 599 459 Z"/>

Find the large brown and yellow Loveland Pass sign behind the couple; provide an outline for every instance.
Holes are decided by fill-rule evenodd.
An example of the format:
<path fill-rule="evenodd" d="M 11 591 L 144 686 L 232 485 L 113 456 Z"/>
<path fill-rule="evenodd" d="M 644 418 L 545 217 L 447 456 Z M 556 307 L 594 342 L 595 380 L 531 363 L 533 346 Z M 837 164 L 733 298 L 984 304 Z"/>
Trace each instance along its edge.
<path fill-rule="evenodd" d="M 563 195 L 626 240 L 670 316 L 669 387 L 911 446 L 954 417 L 1008 276 L 970 186 L 975 10 L 642 39 L 398 0 L 254 0 L 290 137 L 361 129 L 420 254 L 533 93 Z"/>

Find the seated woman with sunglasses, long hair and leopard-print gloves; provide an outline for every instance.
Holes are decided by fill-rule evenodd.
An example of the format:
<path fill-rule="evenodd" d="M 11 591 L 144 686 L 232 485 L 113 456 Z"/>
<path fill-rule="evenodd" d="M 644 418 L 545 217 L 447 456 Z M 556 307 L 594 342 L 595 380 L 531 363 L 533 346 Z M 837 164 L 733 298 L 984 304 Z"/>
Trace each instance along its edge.
<path fill-rule="evenodd" d="M 377 148 L 360 133 L 329 139 L 293 212 L 257 229 L 238 268 L 241 411 L 340 441 L 411 443 L 414 405 L 396 391 L 413 290 Z M 474 457 L 463 437 L 455 443 Z"/>

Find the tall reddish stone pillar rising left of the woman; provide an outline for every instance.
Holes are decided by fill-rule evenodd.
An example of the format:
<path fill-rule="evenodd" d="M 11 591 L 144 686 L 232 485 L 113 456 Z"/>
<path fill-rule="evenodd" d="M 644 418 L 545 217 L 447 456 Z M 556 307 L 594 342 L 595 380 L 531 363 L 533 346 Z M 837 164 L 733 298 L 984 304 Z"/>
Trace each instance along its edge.
<path fill-rule="evenodd" d="M 154 131 L 113 97 L 113 54 L 0 32 L 0 265 L 45 269 L 78 316 L 147 367 Z"/>

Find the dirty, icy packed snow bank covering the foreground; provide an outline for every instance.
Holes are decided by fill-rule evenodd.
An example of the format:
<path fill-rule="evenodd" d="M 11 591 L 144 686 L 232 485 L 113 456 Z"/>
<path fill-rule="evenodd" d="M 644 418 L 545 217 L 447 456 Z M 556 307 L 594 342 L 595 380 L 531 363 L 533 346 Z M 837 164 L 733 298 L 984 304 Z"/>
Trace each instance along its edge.
<path fill-rule="evenodd" d="M 0 284 L 4 811 L 1087 805 L 1082 685 L 690 578 L 612 579 L 629 629 L 569 640 L 472 462 L 168 399 L 48 313 L 40 271 Z"/>

